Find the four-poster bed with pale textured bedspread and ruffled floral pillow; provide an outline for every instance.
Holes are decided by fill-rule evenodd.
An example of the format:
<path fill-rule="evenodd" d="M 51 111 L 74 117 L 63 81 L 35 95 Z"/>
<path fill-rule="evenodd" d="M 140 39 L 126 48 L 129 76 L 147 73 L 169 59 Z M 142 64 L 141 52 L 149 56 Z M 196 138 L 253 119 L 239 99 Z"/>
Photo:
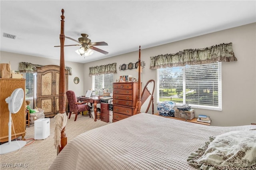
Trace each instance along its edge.
<path fill-rule="evenodd" d="M 140 64 L 138 66 L 140 69 Z M 141 84 L 140 70 L 138 73 L 138 81 Z M 216 144 L 219 145 L 221 142 L 226 145 L 228 151 L 238 151 L 237 148 L 245 149 L 238 152 L 239 156 L 247 156 L 245 160 L 241 159 L 242 166 L 245 164 L 245 168 L 240 169 L 256 168 L 256 125 L 214 127 L 140 113 L 140 95 L 141 87 L 138 87 L 138 114 L 84 132 L 68 144 L 65 144 L 66 137 L 62 135 L 64 142 L 61 143 L 64 145 L 49 169 L 218 169 L 218 165 L 214 165 L 214 162 L 220 164 L 216 158 L 213 162 L 207 162 L 212 161 L 212 154 L 206 158 L 207 154 L 216 150 L 218 152 L 214 156 L 225 157 L 226 163 L 229 163 L 228 166 L 230 164 L 233 166 L 229 169 L 236 169 L 241 161 L 234 160 L 237 158 L 234 155 L 229 154 L 228 157 L 226 153 L 218 150 Z M 220 148 L 224 150 L 225 147 L 221 145 Z M 222 161 L 221 164 L 225 166 L 224 163 Z"/>

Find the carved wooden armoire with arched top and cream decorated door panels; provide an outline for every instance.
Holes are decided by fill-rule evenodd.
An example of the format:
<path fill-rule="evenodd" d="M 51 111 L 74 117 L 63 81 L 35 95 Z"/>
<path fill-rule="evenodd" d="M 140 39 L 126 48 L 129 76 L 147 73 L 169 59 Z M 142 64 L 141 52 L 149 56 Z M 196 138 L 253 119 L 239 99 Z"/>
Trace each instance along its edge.
<path fill-rule="evenodd" d="M 45 65 L 34 68 L 34 108 L 44 110 L 45 117 L 59 113 L 60 66 Z M 68 91 L 68 71 L 65 71 L 66 91 Z M 68 103 L 66 103 L 68 111 Z"/>

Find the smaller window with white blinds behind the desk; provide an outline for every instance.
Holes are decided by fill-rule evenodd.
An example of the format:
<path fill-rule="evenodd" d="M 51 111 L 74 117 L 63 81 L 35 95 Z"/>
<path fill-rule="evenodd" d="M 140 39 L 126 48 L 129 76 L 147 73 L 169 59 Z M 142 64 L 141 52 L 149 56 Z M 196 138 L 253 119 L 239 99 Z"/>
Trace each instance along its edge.
<path fill-rule="evenodd" d="M 92 76 L 92 95 L 102 95 L 102 89 L 113 91 L 114 74 L 102 74 Z"/>

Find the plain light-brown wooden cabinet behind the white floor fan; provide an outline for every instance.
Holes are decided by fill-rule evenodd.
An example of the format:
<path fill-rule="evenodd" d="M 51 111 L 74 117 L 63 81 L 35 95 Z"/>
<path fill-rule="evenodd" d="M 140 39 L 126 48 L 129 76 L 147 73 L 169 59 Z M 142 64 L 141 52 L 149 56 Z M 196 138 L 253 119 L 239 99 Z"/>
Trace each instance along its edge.
<path fill-rule="evenodd" d="M 9 123 L 9 109 L 8 103 L 5 99 L 12 95 L 15 89 L 22 88 L 24 91 L 24 100 L 20 111 L 12 114 L 12 126 L 16 133 L 16 137 L 22 136 L 25 140 L 26 133 L 26 109 L 25 109 L 25 81 L 26 79 L 7 79 L 0 78 L 0 142 L 8 141 L 8 123 Z M 12 140 L 15 139 L 15 134 L 12 129 Z"/>

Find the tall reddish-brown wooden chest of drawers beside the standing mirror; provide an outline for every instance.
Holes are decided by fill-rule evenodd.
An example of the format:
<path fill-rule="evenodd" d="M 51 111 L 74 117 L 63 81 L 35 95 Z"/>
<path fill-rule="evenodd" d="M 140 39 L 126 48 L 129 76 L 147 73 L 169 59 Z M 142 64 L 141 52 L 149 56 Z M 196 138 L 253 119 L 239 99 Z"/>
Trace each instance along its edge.
<path fill-rule="evenodd" d="M 137 114 L 138 82 L 113 83 L 113 122 Z"/>

